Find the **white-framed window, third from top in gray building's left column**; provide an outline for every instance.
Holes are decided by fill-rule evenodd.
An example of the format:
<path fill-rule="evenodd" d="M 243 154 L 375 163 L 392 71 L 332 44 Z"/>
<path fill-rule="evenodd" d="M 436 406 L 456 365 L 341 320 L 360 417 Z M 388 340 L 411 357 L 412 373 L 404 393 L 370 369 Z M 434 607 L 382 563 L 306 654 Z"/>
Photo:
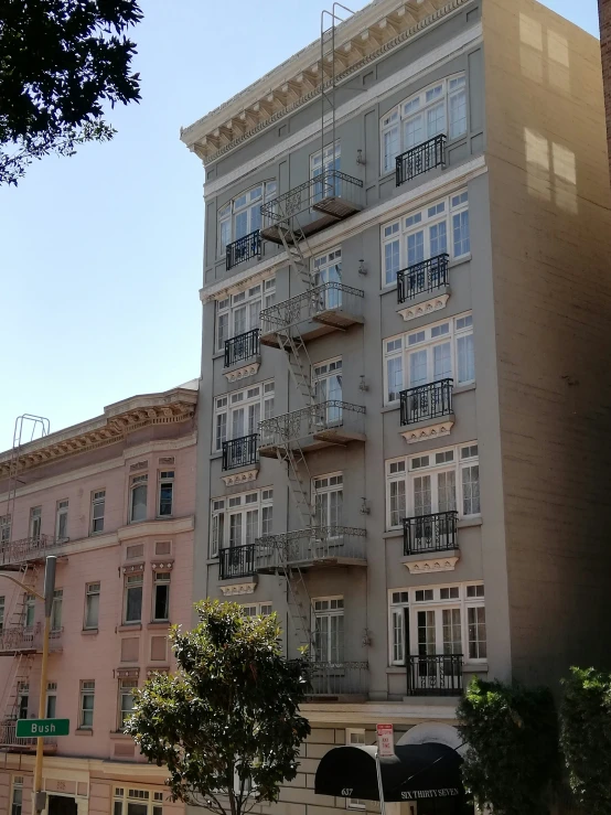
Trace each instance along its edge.
<path fill-rule="evenodd" d="M 217 396 L 214 400 L 213 452 L 221 452 L 224 441 L 258 432 L 259 421 L 271 418 L 272 414 L 274 379 Z"/>

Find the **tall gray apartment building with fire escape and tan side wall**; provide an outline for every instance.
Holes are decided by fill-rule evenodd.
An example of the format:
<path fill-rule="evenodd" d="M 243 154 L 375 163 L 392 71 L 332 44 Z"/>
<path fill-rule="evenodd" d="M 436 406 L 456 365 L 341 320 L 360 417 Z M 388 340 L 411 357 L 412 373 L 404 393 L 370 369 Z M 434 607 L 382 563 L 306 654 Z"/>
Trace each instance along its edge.
<path fill-rule="evenodd" d="M 181 135 L 206 170 L 195 596 L 308 646 L 290 815 L 375 807 L 314 775 L 376 723 L 455 748 L 472 676 L 556 687 L 611 653 L 598 42 L 530 0 L 322 29 Z"/>

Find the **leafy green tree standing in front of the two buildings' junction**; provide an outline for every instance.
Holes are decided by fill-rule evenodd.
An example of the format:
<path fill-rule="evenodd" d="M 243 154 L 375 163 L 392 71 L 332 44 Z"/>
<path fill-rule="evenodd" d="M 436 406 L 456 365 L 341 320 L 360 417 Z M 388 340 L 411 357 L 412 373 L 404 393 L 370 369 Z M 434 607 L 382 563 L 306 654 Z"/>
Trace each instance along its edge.
<path fill-rule="evenodd" d="M 176 674 L 154 675 L 136 693 L 126 732 L 168 765 L 174 801 L 245 815 L 277 801 L 297 774 L 310 732 L 299 715 L 308 663 L 282 657 L 275 614 L 243 616 L 216 600 L 195 608 L 199 625 L 171 633 Z"/>

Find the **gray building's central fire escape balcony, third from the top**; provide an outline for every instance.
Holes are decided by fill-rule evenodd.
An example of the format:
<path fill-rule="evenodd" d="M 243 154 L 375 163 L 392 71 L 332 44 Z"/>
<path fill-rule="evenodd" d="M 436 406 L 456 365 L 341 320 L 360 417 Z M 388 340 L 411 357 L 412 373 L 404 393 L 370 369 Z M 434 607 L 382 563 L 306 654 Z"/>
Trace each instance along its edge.
<path fill-rule="evenodd" d="M 278 450 L 300 448 L 308 452 L 331 444 L 365 441 L 365 408 L 339 399 L 275 416 L 259 422 L 259 454 L 277 458 Z"/>

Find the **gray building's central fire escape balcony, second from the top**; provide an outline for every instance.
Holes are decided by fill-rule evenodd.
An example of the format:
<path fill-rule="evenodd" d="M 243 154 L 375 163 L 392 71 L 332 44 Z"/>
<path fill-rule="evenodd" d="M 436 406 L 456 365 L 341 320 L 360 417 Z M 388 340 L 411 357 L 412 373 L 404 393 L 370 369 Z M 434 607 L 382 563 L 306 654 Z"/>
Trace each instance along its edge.
<path fill-rule="evenodd" d="M 291 328 L 304 323 L 309 324 L 296 333 L 306 342 L 363 323 L 363 298 L 362 289 L 333 281 L 264 309 L 261 344 L 279 348 L 281 341 L 278 333 L 288 333 Z"/>

